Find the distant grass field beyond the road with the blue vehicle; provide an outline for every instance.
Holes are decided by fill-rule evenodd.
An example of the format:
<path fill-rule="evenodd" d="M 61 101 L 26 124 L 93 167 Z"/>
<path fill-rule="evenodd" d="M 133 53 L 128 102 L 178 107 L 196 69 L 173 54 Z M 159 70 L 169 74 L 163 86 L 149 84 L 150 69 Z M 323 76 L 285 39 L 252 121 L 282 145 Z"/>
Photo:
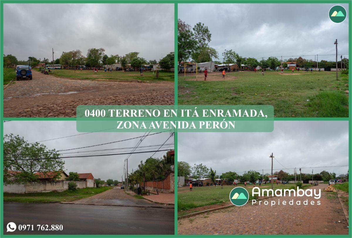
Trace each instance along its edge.
<path fill-rule="evenodd" d="M 109 80 L 141 80 L 141 81 L 174 81 L 174 72 L 160 71 L 159 78 L 156 78 L 154 72 L 143 72 L 143 76 L 140 76 L 139 72 L 125 72 L 125 71 L 112 71 L 112 73 L 98 70 L 97 74 L 93 73 L 93 70 L 65 70 L 59 69 L 54 70 L 55 76 L 75 79 L 109 79 Z"/>

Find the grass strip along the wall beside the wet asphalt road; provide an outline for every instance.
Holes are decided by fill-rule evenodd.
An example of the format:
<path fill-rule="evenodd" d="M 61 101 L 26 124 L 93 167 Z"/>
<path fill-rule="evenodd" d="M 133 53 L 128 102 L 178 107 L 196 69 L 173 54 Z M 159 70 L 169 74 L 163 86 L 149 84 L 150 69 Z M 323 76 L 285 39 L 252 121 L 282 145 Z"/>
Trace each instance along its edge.
<path fill-rule="evenodd" d="M 30 202 L 30 203 L 48 203 L 75 201 L 82 198 L 88 198 L 98 193 L 105 192 L 113 187 L 100 188 L 81 188 L 76 191 L 66 190 L 64 192 L 48 193 L 4 193 L 4 202 Z"/>

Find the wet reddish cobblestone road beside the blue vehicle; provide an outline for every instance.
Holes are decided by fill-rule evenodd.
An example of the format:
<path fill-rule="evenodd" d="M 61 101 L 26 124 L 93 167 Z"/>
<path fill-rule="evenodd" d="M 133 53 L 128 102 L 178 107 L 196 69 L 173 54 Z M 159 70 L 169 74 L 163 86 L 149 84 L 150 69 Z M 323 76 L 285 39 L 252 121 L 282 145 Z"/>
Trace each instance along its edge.
<path fill-rule="evenodd" d="M 78 105 L 173 105 L 174 83 L 73 80 L 33 70 L 4 89 L 4 117 L 75 117 Z"/>

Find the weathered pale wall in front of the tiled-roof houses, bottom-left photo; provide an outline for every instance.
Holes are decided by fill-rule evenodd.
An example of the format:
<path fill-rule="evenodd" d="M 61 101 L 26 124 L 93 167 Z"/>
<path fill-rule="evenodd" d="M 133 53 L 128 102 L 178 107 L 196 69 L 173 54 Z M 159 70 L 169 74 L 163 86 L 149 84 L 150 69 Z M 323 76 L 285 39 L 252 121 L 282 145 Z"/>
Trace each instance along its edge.
<path fill-rule="evenodd" d="M 4 184 L 4 193 L 45 193 L 45 192 L 62 192 L 68 189 L 67 180 L 56 181 L 39 181 L 29 183 L 13 183 Z M 87 181 L 73 181 L 77 184 L 77 188 L 91 188 L 94 187 L 94 181 L 87 179 Z"/>

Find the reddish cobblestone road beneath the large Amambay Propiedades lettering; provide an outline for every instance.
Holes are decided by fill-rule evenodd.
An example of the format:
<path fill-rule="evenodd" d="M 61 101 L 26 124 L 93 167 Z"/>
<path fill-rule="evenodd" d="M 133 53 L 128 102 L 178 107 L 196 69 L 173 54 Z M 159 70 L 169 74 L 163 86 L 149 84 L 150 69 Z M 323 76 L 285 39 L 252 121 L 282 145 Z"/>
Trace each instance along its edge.
<path fill-rule="evenodd" d="M 327 184 L 319 184 L 321 205 L 275 205 L 273 200 L 314 200 L 312 197 L 274 197 L 269 205 L 231 207 L 196 215 L 178 221 L 178 234 L 348 234 L 348 224 L 338 199 L 323 192 Z M 265 201 L 265 200 L 263 200 Z M 262 202 L 263 202 L 262 201 Z M 259 200 L 257 201 L 257 203 Z M 340 222 L 339 222 L 340 221 Z"/>

